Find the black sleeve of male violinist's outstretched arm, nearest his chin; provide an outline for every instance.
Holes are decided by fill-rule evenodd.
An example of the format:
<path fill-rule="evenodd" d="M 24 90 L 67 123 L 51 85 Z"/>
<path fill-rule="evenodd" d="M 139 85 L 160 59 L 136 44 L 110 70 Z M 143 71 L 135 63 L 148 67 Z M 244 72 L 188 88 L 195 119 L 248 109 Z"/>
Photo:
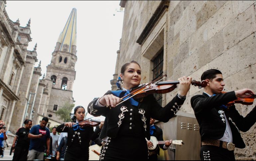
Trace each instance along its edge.
<path fill-rule="evenodd" d="M 236 100 L 235 92 L 227 92 L 205 98 L 203 95 L 196 95 L 191 98 L 191 106 L 195 114 L 205 110 L 211 110 L 214 107 L 225 105 L 230 101 Z"/>

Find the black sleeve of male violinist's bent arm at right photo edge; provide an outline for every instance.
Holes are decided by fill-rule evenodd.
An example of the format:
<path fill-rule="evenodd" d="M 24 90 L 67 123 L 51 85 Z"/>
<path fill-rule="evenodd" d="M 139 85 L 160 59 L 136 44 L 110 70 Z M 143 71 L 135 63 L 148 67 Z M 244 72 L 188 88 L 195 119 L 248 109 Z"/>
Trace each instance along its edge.
<path fill-rule="evenodd" d="M 229 116 L 232 119 L 231 121 L 243 132 L 248 131 L 256 122 L 256 106 L 246 115 L 246 117 L 241 116 L 235 109 L 235 106 L 230 107 L 229 109 Z"/>

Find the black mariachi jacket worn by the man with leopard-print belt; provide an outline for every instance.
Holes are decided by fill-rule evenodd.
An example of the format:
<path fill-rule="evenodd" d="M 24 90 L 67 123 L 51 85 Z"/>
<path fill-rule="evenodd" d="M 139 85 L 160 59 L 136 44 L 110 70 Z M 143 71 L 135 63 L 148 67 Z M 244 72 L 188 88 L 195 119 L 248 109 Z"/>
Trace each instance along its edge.
<path fill-rule="evenodd" d="M 238 113 L 235 106 L 231 106 L 227 110 L 220 108 L 221 105 L 234 100 L 236 100 L 234 91 L 212 97 L 203 93 L 191 98 L 191 106 L 200 126 L 201 141 L 206 139 L 218 140 L 223 137 L 226 129 L 226 121 L 223 121 L 224 117 L 221 117 L 223 111 L 230 125 L 235 147 L 245 147 L 239 130 L 248 131 L 255 123 L 256 107 L 245 118 Z"/>

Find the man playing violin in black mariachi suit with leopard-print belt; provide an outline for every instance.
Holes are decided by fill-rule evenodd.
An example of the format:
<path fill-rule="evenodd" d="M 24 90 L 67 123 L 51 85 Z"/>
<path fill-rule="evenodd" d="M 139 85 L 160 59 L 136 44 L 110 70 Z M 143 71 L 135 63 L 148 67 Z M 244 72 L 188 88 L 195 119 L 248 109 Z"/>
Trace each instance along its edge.
<path fill-rule="evenodd" d="M 222 93 L 225 83 L 222 73 L 216 69 L 203 72 L 201 81 L 205 80 L 202 95 L 191 98 L 191 106 L 200 126 L 201 160 L 235 160 L 234 149 L 244 148 L 240 131 L 248 131 L 256 122 L 256 107 L 246 116 L 241 116 L 235 106 L 225 106 L 239 98 L 250 98 L 255 93 L 242 89 Z"/>

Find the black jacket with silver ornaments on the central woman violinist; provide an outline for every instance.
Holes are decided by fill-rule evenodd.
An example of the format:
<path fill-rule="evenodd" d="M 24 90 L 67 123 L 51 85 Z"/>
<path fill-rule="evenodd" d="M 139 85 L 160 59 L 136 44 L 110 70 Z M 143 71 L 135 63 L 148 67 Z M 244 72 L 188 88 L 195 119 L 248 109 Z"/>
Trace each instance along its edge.
<path fill-rule="evenodd" d="M 105 93 L 105 95 L 112 94 L 111 91 L 108 91 Z M 106 107 L 99 107 L 96 106 L 96 100 L 93 100 L 88 105 L 88 112 L 92 116 L 105 116 L 104 125 L 100 134 L 100 138 L 103 138 L 104 136 L 108 137 L 116 137 L 117 132 L 120 129 L 120 125 L 122 124 L 124 113 L 125 111 L 124 107 L 132 106 L 128 101 L 118 105 L 115 108 L 106 108 Z M 139 103 L 138 108 L 140 112 L 141 117 L 141 126 L 144 130 L 144 136 L 150 140 L 150 133 L 149 133 L 149 123 L 150 123 L 150 117 L 153 119 L 162 121 L 162 122 L 168 122 L 181 108 L 182 104 L 185 100 L 181 100 L 177 95 L 173 98 L 171 102 L 169 102 L 164 108 L 161 107 L 155 97 L 153 95 L 148 95 L 143 98 L 143 101 Z M 122 112 L 122 110 L 124 112 Z M 105 134 L 103 134 L 103 132 Z"/>

